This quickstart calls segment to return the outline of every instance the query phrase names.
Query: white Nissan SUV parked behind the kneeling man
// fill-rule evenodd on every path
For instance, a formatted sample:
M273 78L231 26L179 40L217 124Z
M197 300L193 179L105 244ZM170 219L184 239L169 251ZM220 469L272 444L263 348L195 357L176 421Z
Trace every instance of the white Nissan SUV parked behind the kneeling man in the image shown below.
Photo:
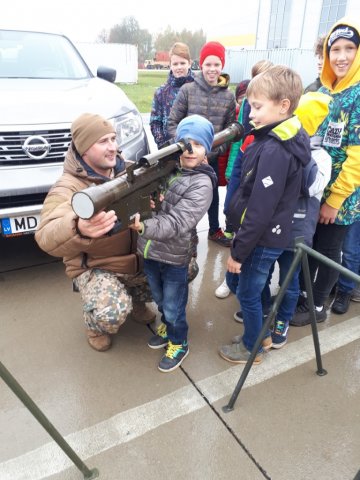
M141 115L115 76L99 67L94 77L63 35L0 30L0 234L35 231L82 113L114 122L125 158L149 153Z

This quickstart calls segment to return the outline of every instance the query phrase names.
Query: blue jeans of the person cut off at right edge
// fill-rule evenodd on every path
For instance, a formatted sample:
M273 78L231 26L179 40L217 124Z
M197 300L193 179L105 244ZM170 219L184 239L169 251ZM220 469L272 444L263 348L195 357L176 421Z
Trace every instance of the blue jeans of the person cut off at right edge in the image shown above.
M343 243L342 266L359 275L360 273L360 221L350 225ZM351 293L356 282L340 275L338 288L341 292Z

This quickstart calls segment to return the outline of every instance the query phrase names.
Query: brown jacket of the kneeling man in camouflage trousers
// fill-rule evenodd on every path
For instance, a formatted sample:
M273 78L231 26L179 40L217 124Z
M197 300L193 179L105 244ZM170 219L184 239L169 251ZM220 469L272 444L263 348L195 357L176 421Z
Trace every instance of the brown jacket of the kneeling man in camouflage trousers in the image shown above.
M124 170L120 174L123 173ZM90 268L135 274L140 270L135 232L127 229L112 236L87 239L76 230L77 216L71 208L72 195L94 183L104 183L104 178L89 176L70 146L64 173L45 199L35 239L45 252L63 257L70 278Z

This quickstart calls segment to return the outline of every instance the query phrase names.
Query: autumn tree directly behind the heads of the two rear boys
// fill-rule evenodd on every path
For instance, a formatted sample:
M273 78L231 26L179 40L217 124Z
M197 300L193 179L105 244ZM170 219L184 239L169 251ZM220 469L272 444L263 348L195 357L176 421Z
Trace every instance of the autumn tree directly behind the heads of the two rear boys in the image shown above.
M167 26L163 33L159 33L154 41L154 48L156 51L168 51L175 42L184 42L190 48L192 59L198 59L201 47L206 43L206 35L204 31L197 30L191 32L190 30L182 30L175 32L170 26Z

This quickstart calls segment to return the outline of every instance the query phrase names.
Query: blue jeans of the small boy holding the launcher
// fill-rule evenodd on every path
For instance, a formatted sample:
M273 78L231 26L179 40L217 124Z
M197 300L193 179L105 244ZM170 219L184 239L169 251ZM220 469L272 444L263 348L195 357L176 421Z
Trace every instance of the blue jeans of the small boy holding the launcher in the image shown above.
M162 313L167 336L175 345L187 341L188 266L144 260L144 271L154 301Z

